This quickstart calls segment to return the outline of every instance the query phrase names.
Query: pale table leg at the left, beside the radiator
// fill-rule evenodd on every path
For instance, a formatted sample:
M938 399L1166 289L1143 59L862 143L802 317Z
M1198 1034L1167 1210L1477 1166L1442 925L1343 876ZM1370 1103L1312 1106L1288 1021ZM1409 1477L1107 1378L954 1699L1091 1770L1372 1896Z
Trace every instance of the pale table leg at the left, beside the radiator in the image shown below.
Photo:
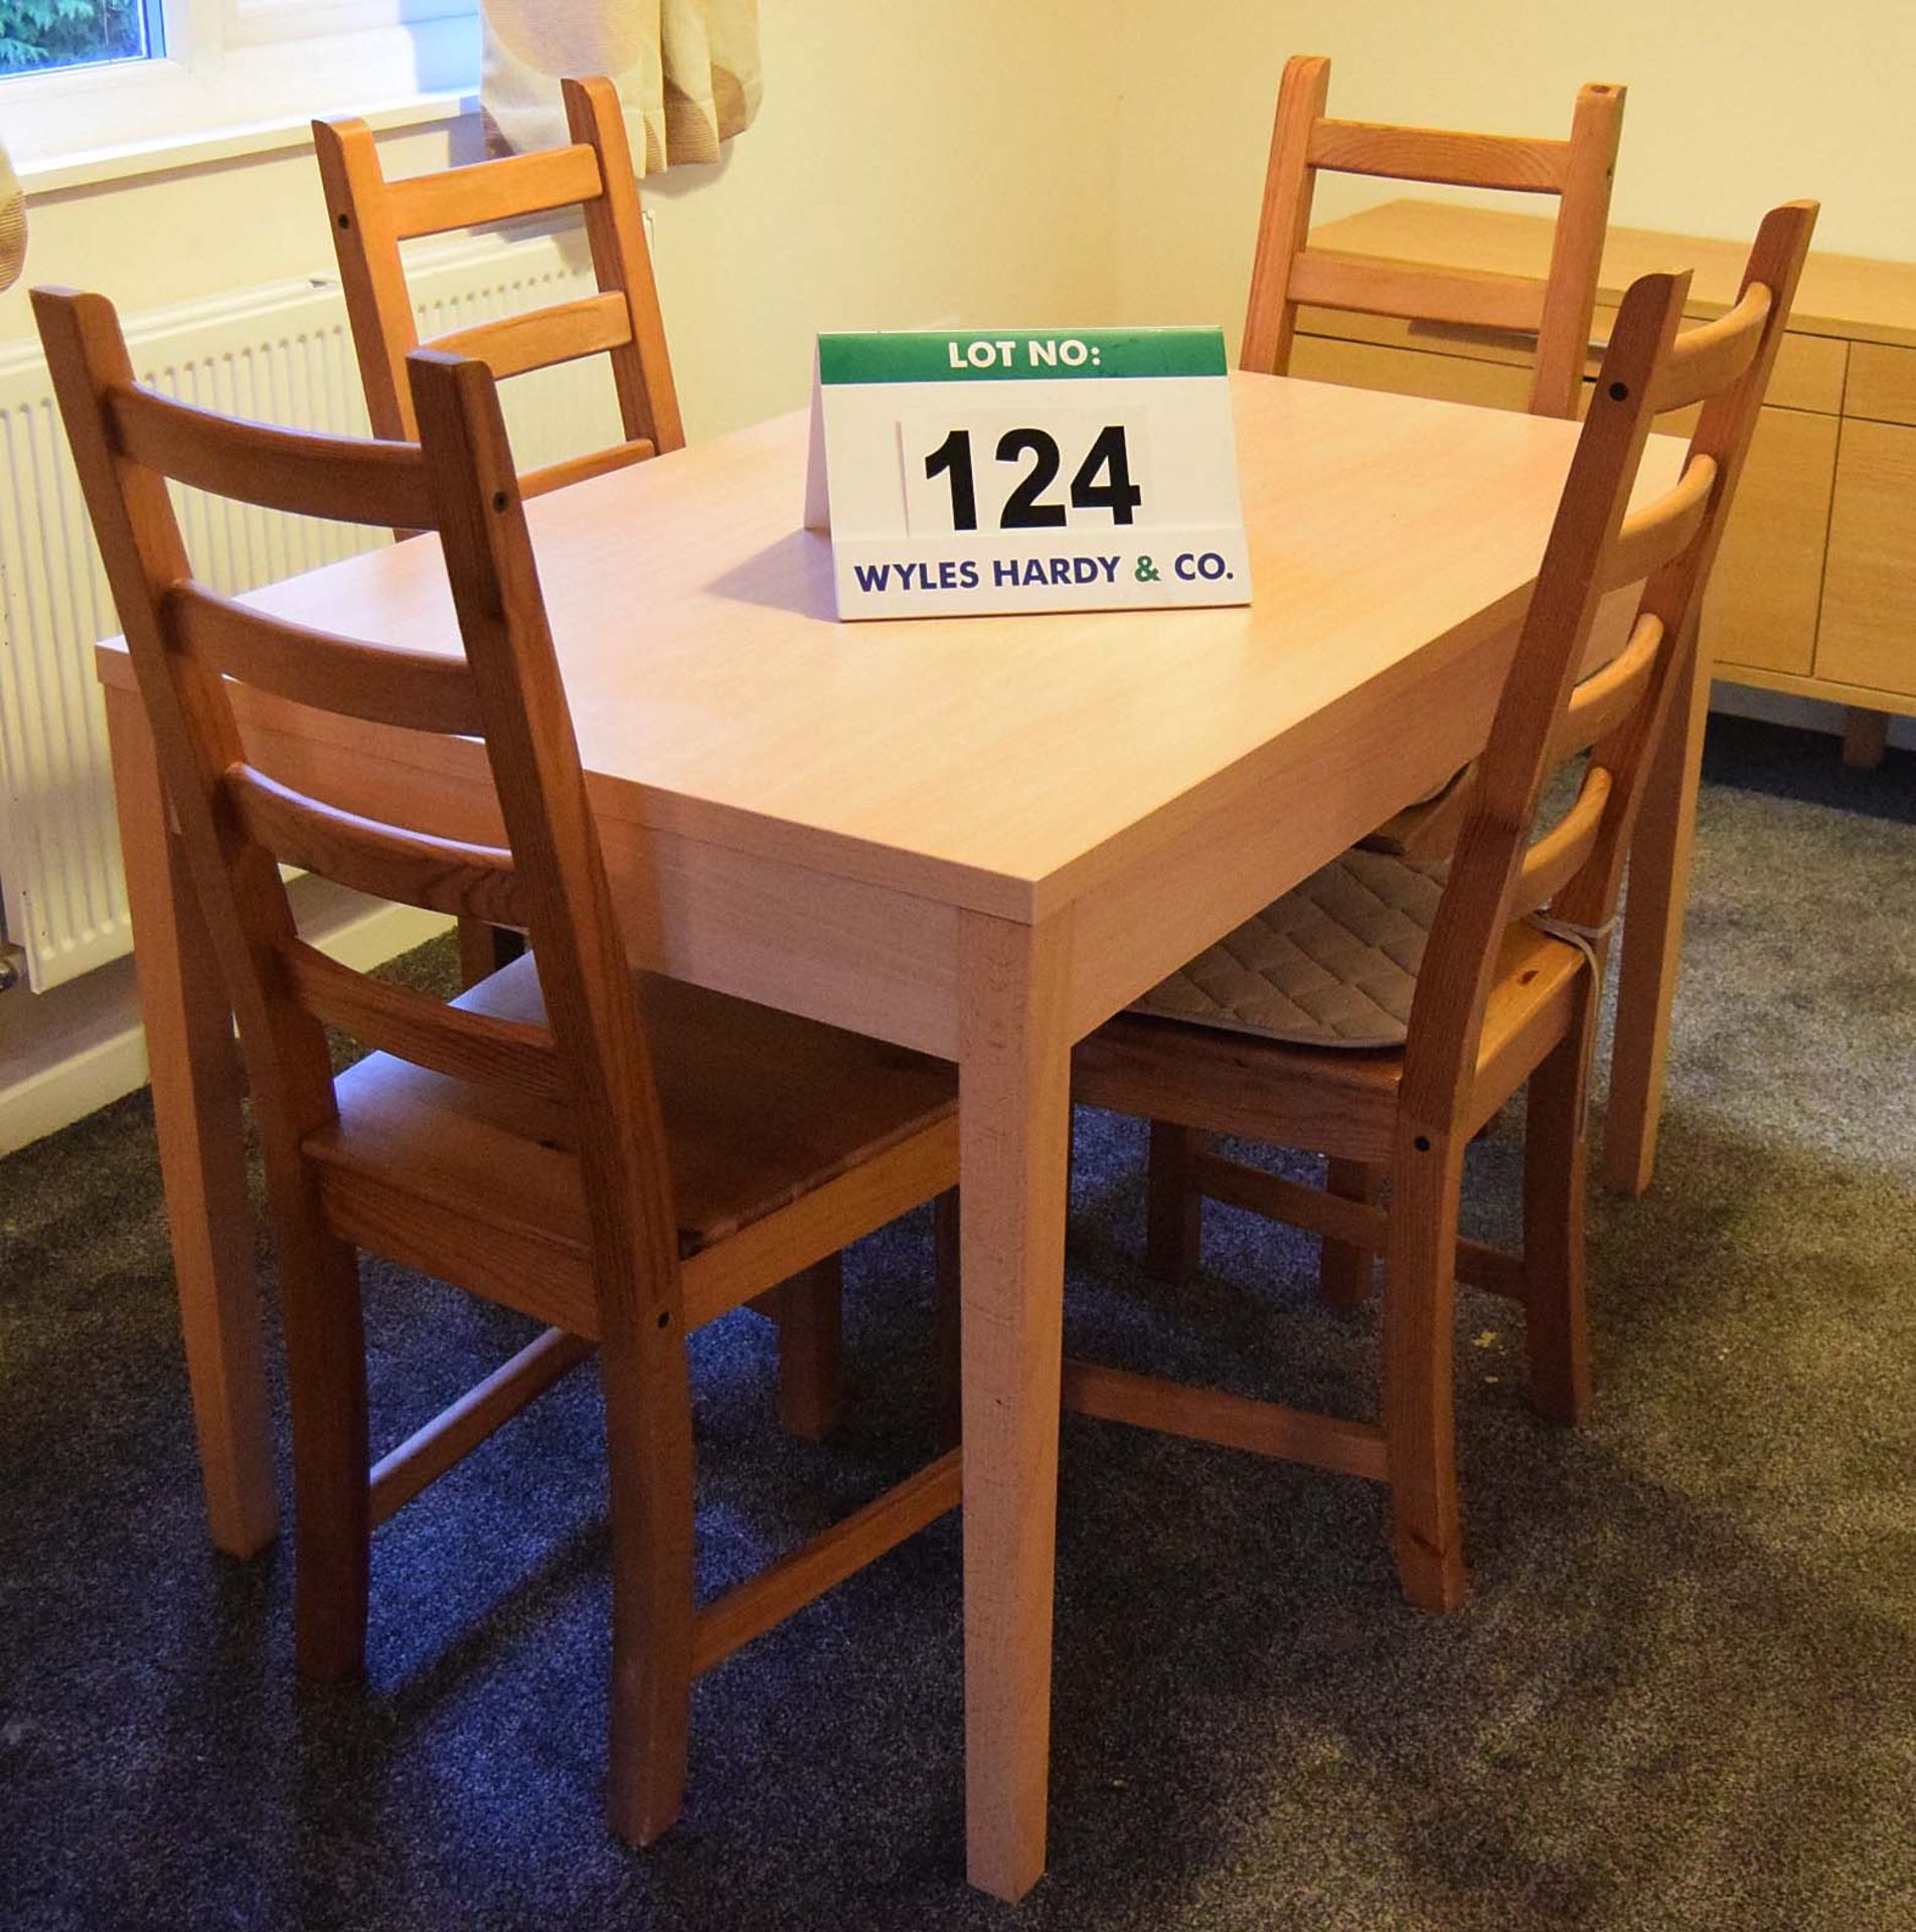
M207 1520L249 1557L276 1517L234 1016L133 692L106 694L106 728Z

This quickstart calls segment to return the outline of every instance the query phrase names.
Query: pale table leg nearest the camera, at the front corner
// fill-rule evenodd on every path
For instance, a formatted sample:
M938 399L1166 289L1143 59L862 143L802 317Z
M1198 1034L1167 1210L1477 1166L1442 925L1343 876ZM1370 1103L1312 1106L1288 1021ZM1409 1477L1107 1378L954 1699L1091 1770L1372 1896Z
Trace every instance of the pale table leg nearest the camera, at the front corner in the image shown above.
M966 1843L1018 1899L1051 1764L1070 935L966 914L960 954Z

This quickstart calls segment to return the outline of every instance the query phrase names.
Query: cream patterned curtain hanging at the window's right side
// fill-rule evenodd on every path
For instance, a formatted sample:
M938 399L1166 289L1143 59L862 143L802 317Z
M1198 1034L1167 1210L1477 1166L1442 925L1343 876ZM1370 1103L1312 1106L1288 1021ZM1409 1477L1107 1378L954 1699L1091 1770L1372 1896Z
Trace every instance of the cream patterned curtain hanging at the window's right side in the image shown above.
M558 147L562 73L606 73L639 174L717 160L759 112L759 0L481 0L479 99L518 153Z

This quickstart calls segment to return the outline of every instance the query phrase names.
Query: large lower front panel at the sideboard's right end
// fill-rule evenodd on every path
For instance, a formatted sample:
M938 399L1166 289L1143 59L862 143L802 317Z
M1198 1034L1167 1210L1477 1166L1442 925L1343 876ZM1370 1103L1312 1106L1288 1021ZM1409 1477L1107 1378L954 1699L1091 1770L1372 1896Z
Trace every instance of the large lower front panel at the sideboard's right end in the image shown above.
M1816 674L1916 697L1916 427L1843 423Z

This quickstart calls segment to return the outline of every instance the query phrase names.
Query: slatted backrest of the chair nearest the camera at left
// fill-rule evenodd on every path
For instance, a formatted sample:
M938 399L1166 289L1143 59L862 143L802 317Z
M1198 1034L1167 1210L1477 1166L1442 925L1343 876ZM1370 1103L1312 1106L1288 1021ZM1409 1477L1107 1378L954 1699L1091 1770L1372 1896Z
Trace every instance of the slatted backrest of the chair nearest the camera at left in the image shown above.
M338 1117L324 1026L500 1090L516 1119L576 1148L601 1318L676 1316L678 1244L659 1103L578 744L525 533L493 375L421 352L419 446L267 429L133 381L112 303L35 290L33 307L106 558L195 891L240 1018L268 1182L307 1188L303 1146ZM377 645L267 616L193 578L168 479L350 524L437 529L465 657ZM506 844L373 819L255 765L245 684L336 717L481 738ZM525 927L549 1026L357 974L299 939L290 864L435 912ZM294 1204L296 1206L296 1204Z

